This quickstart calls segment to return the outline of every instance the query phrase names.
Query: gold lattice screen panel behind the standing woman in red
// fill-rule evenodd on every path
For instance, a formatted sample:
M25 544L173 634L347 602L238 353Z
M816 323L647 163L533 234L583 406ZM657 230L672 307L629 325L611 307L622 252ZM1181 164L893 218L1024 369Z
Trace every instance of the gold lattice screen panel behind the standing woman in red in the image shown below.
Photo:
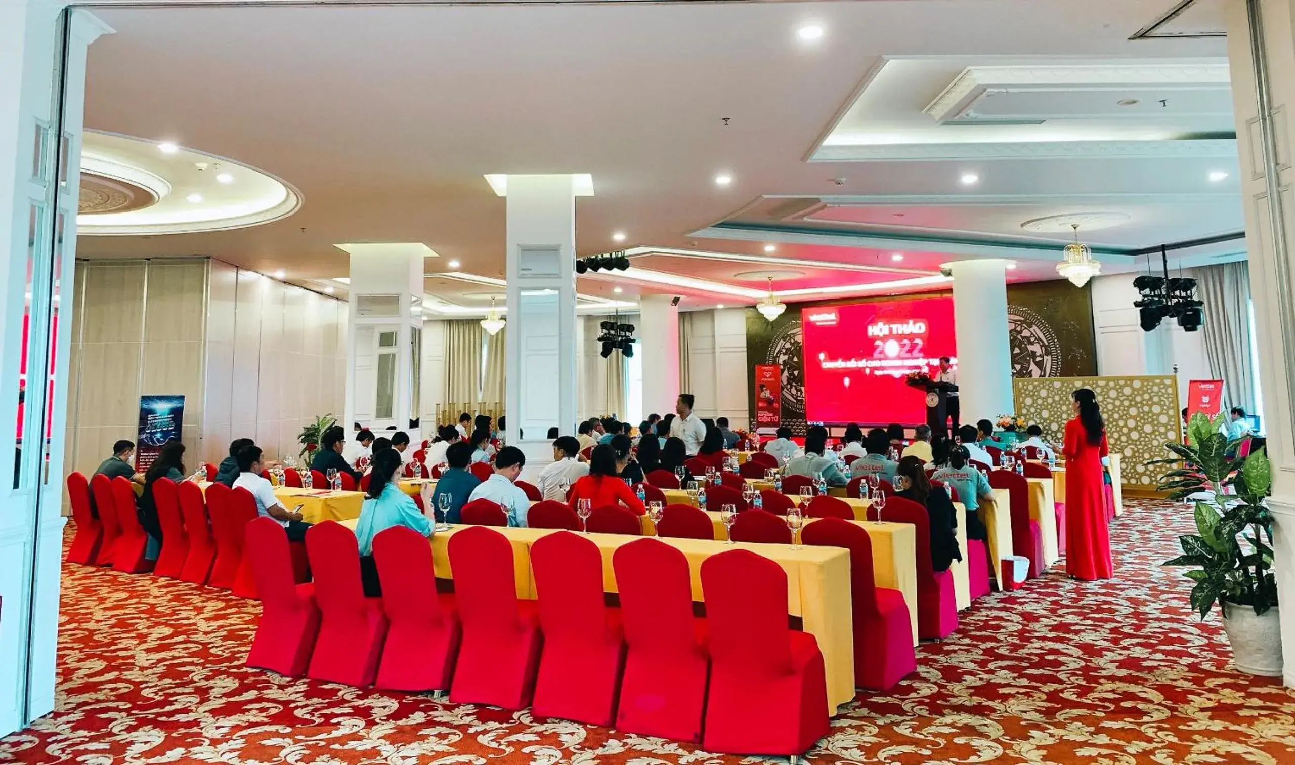
M1093 388L1111 452L1123 454L1125 485L1155 487L1164 466L1145 463L1168 456L1166 441L1182 440L1178 384L1171 375L1017 378L1013 387L1017 414L1037 423L1044 438L1057 443L1074 417L1070 395L1076 388Z

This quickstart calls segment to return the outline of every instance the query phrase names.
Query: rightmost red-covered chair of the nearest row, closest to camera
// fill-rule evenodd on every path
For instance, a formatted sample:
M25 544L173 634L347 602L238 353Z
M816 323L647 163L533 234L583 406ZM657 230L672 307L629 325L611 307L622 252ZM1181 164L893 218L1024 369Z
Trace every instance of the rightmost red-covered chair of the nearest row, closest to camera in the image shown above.
M711 654L702 747L803 753L828 735L828 687L813 636L787 628L786 572L750 550L728 550L702 563L702 590Z

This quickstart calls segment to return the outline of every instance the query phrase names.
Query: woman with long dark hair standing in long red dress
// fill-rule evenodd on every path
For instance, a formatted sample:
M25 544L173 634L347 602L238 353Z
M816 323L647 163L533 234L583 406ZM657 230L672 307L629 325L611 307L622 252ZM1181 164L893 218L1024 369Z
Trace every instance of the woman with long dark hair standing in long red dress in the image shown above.
M1071 394L1075 418L1066 423L1066 571L1075 579L1114 576L1106 527L1102 458L1109 453L1097 394Z

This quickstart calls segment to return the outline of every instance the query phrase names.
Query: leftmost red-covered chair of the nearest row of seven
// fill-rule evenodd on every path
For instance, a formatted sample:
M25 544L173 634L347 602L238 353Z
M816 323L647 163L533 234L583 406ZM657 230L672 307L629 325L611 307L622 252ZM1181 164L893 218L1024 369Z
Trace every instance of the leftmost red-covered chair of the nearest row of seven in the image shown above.
M243 544L260 593L260 620L246 664L300 677L311 663L320 629L315 585L294 581L287 532L273 518L247 523Z

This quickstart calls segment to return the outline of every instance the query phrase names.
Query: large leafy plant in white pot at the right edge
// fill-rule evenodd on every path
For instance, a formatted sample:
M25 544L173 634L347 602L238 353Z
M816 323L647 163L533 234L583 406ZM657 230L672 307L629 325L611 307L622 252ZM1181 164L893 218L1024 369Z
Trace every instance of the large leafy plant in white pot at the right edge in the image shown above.
M1272 572L1273 522L1264 505L1272 467L1264 449L1233 457L1243 439L1229 439L1221 425L1222 416L1211 421L1197 413L1188 423L1188 443L1166 444L1176 457L1153 462L1178 465L1158 488L1171 500L1195 504L1197 533L1180 536L1182 554L1164 564L1191 567L1184 575L1195 582L1191 608L1200 619L1219 602L1237 669L1277 677L1282 639Z

